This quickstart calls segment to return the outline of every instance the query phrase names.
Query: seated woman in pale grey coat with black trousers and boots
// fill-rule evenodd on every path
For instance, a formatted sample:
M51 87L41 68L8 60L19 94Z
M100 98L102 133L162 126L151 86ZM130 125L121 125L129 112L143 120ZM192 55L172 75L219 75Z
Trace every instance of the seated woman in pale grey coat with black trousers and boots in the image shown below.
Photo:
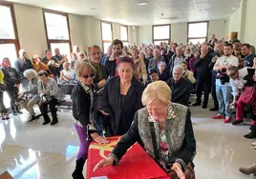
M43 125L47 125L51 122L51 119L47 112L49 105L53 117L51 125L53 126L58 123L57 109L55 108L55 106L65 98L65 94L61 89L58 88L56 82L52 78L48 77L48 75L48 72L45 70L40 70L38 72L39 81L37 83L37 87L39 95L41 99L42 96L48 98L47 102L39 103L39 109L44 117Z

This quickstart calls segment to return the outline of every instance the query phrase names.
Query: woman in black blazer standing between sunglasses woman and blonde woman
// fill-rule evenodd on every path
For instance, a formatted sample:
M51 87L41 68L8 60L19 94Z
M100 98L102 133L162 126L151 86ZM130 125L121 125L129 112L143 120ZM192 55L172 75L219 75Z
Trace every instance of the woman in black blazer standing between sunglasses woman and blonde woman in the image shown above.
M144 86L133 77L134 61L129 57L118 59L119 76L108 80L97 109L112 119L113 135L122 135L130 128L135 112L141 109Z

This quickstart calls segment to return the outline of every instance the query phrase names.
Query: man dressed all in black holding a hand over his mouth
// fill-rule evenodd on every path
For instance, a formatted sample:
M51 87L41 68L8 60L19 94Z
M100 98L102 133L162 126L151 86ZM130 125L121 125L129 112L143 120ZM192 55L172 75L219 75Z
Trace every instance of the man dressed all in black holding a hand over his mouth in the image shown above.
M211 58L208 54L207 45L201 47L201 55L195 61L195 68L197 68L197 100L193 104L194 107L201 106L202 92L203 92L203 109L207 108L208 98L211 88L211 70L209 63Z

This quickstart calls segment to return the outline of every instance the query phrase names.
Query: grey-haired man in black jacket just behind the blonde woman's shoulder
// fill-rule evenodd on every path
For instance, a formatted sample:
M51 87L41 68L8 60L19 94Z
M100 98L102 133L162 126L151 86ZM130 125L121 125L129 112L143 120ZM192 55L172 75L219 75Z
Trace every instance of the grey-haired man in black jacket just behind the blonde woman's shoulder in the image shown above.
M173 78L167 84L172 90L172 102L188 106L188 100L192 92L192 84L182 78L183 68L175 66L173 68Z

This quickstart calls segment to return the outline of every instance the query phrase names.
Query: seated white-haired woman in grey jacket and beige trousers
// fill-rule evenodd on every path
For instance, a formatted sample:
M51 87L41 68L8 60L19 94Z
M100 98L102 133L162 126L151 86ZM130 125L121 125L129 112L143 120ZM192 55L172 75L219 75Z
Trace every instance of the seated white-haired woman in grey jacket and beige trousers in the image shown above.
M27 89L18 96L17 101L20 101L20 105L24 109L28 110L28 112L30 113L27 123L31 123L35 121L35 112L34 112L33 106L35 104L38 104L40 100L38 89L37 89L37 81L38 81L37 72L32 69L25 70L24 76L28 79L29 84Z

